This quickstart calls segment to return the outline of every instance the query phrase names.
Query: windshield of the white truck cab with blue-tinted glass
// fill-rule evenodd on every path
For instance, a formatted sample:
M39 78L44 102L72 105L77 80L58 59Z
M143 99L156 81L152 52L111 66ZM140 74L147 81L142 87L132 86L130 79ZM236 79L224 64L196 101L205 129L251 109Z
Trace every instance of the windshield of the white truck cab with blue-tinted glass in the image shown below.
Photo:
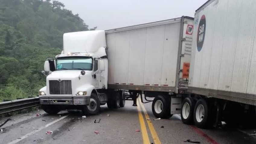
M92 70L91 57L62 57L56 61L56 70Z

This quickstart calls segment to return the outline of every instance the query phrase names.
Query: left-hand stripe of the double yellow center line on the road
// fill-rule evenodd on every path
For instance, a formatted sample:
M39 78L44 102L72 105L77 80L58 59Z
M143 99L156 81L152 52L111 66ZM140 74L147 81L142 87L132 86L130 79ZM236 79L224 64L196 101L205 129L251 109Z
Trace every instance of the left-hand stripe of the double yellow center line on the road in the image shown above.
M137 99L137 103L138 102L138 99ZM147 128L146 128L146 124L145 124L145 121L144 121L144 118L142 116L142 113L141 113L141 108L138 104L138 107L137 107L137 110L138 110L138 115L139 115L139 123L140 123L140 131L141 131L141 135L142 135L142 140L143 140L143 144L149 144L149 135L148 135L148 132L147 132Z

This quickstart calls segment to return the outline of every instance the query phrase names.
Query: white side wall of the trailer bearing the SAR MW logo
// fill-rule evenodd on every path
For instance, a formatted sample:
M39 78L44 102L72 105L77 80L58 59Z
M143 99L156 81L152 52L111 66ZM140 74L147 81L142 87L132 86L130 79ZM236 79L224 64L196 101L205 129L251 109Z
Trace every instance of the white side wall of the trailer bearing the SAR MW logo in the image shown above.
M256 105L255 20L255 0L212 0L199 8L195 14L190 90Z

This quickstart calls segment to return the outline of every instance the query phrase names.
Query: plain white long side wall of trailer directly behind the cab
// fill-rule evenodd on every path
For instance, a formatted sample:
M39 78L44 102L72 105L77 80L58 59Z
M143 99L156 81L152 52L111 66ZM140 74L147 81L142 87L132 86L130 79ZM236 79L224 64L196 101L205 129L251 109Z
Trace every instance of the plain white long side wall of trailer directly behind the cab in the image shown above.
M177 18L128 30L106 31L108 84L126 85L124 88L166 87L167 91L174 91L180 21Z

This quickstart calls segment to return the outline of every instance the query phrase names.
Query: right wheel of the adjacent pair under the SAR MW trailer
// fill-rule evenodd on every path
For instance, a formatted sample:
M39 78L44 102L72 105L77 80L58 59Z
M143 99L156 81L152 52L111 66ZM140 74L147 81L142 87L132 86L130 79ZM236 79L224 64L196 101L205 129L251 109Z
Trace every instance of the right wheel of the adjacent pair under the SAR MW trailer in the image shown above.
M197 127L207 129L213 126L214 116L210 103L203 98L199 99L194 108L194 123Z

